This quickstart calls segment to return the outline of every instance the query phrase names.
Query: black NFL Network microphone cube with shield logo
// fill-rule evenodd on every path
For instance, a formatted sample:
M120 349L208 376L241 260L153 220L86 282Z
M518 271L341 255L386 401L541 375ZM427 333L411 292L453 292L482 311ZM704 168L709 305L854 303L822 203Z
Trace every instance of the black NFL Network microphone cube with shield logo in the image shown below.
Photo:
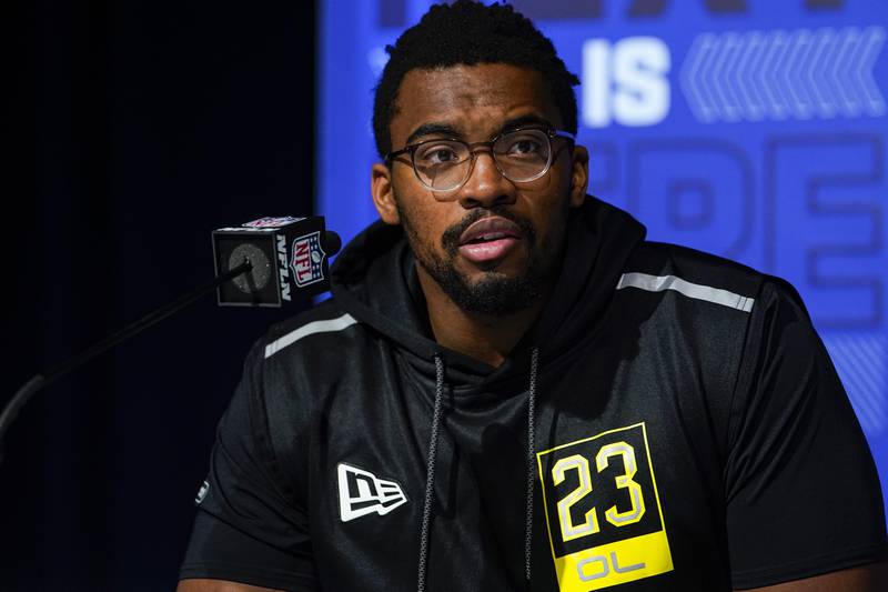
M219 277L249 261L253 269L218 289L223 307L274 307L329 290L325 228L321 217L260 218L213 231Z

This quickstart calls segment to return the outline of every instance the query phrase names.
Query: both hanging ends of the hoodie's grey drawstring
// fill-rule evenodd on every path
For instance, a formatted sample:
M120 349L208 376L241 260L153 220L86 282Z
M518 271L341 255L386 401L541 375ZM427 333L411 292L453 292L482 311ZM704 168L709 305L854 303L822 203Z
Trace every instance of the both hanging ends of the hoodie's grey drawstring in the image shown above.
M444 399L444 360L435 354L435 403L432 412L432 433L428 437L428 461L423 501L423 524L420 531L420 568L416 580L417 592L425 592L425 574L428 564L428 528L432 521L432 501L435 495L435 460L437 459L437 434L441 429L441 404ZM534 533L534 465L536 452L536 374L539 348L531 352L531 384L527 388L527 491L524 501L524 578L531 582L531 543Z

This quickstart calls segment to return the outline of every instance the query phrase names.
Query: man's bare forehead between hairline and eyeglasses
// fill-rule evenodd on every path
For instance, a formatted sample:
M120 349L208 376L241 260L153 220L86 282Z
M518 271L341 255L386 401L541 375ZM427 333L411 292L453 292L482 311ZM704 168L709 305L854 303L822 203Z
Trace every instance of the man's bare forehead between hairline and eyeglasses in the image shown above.
M494 131L504 121L525 116L561 124L543 76L504 63L411 70L398 88L395 108L391 128L395 142L428 123L447 123L464 133Z

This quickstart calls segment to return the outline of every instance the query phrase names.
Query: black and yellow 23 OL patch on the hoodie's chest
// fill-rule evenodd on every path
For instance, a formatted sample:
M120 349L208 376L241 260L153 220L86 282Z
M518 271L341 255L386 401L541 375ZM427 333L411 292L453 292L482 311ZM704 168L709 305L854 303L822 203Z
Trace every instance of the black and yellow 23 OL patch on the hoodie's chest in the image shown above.
M561 592L673 570L644 423L544 450L536 460Z

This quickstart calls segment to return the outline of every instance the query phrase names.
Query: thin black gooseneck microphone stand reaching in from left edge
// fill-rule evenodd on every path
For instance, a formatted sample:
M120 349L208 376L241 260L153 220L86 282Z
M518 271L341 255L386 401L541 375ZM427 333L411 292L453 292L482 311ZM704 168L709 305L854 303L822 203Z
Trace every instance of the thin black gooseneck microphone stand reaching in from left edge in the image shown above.
M31 380L26 382L16 392L16 394L12 397L9 403L7 403L7 405L3 408L3 412L0 413L0 465L3 464L3 435L6 435L6 432L9 430L9 427L18 417L19 411L21 411L24 404L28 403L31 397L40 392L43 388L49 387L60 378L70 373L71 371L85 364L93 358L101 355L102 353L114 348L115 345L119 345L120 343L123 343L128 339L138 335L149 327L159 323L163 319L172 317L173 314L181 311L185 307L198 301L201 297L203 297L208 292L215 290L226 281L236 278L241 273L246 273L252 269L253 264L249 260L244 259L243 263L219 275L215 280L208 282L201 285L200 288L196 288L191 292L178 298L176 300L170 302L169 304L145 314L138 321L130 323L129 325L124 327L117 333L95 343L91 348L74 355L67 362L60 364L57 368L53 368L49 372L39 373L33 378L31 378Z

